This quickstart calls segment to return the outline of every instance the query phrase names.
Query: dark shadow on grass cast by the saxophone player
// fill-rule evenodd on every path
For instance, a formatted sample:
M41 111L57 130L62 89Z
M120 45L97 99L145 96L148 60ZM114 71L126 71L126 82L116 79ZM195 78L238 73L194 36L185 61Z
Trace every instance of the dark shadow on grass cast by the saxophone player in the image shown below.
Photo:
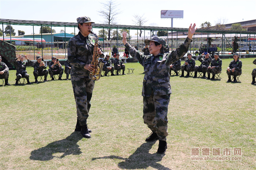
M30 159L38 161L49 161L56 156L53 154L63 153L61 157L64 158L67 155L79 155L82 152L80 151L79 145L77 142L81 140L82 135L78 135L78 132L73 132L67 138L58 140L52 143L49 143L45 147L39 148L31 152Z

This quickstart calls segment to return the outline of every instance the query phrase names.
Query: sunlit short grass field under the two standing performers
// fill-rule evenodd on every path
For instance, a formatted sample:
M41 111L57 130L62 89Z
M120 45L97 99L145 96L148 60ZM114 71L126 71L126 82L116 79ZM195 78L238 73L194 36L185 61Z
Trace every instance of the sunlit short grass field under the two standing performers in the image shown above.
M90 139L74 132L76 106L70 80L0 86L0 169L256 169L256 86L251 85L254 58L241 59L238 83L172 77L167 151L158 141L145 142L150 130L142 119L143 67L127 63L135 74L102 77L95 82L87 120ZM183 64L184 62L182 62ZM196 61L196 65L199 62ZM127 73L127 70L125 71ZM65 76L63 76L64 78ZM49 76L48 79L50 80ZM192 161L192 149L231 150L239 161ZM234 148L241 148L235 155ZM205 150L204 150L205 151Z

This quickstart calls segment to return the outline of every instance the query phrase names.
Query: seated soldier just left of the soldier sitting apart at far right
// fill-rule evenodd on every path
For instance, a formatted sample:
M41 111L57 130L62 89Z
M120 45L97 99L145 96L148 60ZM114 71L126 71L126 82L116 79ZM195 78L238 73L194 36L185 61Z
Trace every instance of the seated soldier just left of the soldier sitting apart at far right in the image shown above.
M221 73L222 60L219 58L219 53L214 53L214 59L211 61L211 65L207 68L207 79L215 80L215 74ZM212 78L210 78L212 74Z

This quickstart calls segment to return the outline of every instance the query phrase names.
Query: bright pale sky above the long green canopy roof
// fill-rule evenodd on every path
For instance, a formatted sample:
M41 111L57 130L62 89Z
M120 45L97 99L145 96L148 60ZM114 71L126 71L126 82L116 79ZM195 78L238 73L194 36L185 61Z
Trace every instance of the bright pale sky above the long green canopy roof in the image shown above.
M42 20L58 22L76 22L79 16L90 16L95 23L103 23L99 16L102 2L98 0L0 0L0 18L19 20ZM133 15L143 15L148 20L145 26L155 23L159 27L171 27L170 19L161 19L161 10L183 10L183 19L174 19L173 27L188 28L190 23L197 27L206 21L212 25L219 19L226 23L242 22L256 19L256 0L117 0L118 9L116 23L134 25ZM16 35L18 30L25 34L33 33L32 26L12 26ZM2 26L0 26L1 29ZM5 25L4 25L5 28ZM64 27L54 27L59 32ZM34 27L39 33L39 27ZM77 30L76 30L77 31ZM94 30L95 31L95 30ZM67 33L74 28L66 28Z

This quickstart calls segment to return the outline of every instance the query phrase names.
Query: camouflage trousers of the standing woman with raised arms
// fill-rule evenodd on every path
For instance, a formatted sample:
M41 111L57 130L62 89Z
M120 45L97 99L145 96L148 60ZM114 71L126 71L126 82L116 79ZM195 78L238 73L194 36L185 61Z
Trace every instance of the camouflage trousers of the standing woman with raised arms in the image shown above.
M143 96L143 120L152 132L157 133L159 140L166 140L167 112L170 101L170 94L163 96Z

